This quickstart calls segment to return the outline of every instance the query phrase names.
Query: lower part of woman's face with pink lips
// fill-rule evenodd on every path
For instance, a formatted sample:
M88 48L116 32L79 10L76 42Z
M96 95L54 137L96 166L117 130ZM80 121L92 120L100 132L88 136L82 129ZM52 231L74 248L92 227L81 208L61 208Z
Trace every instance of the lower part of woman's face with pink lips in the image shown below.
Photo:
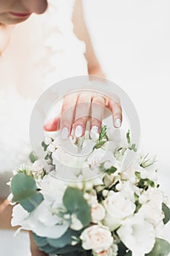
M46 9L47 0L0 0L0 23L17 24Z

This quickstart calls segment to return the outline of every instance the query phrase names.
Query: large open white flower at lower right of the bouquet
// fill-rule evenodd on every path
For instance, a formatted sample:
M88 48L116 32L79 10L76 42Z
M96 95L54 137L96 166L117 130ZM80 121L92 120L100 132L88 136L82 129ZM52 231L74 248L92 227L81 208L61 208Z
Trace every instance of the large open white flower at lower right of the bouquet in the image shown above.
M135 215L128 217L117 230L123 244L131 250L132 256L144 256L155 244L155 230L152 224Z

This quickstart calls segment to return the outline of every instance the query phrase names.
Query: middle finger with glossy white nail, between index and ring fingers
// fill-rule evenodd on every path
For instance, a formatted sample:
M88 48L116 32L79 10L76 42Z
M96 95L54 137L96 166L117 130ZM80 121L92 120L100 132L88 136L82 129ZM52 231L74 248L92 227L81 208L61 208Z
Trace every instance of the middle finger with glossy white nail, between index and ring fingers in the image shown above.
M81 137L85 134L85 128L90 113L91 96L88 93L81 93L77 100L74 119L74 135Z

